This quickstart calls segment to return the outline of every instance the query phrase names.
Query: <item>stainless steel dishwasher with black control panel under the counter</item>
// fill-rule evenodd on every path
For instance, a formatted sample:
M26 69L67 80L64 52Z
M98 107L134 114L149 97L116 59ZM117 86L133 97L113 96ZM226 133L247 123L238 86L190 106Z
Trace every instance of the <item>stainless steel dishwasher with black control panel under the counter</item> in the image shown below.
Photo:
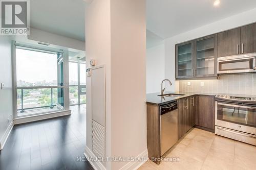
M160 106L161 156L178 141L177 101Z

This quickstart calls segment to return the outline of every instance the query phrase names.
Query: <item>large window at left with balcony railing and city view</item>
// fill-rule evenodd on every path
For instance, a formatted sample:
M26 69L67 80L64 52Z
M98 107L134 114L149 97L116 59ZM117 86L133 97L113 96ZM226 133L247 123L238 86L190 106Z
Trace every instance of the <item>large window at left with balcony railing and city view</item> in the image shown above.
M16 45L17 116L63 109L62 53Z

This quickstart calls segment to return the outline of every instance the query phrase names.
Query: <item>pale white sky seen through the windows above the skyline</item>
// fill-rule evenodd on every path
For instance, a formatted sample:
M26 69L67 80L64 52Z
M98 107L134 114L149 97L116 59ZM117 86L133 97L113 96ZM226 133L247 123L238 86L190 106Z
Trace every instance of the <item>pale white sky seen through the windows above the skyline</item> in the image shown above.
M77 82L77 63L69 63L70 82ZM16 48L17 81L52 82L57 80L57 54ZM80 64L80 82L86 84L86 64Z

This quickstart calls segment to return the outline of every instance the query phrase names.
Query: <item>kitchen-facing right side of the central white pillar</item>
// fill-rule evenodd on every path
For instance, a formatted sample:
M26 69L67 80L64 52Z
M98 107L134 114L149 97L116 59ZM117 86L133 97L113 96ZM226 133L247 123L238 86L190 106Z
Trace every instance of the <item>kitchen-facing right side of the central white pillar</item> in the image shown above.
M111 152L146 151L146 2L111 0ZM120 169L126 162L113 162Z

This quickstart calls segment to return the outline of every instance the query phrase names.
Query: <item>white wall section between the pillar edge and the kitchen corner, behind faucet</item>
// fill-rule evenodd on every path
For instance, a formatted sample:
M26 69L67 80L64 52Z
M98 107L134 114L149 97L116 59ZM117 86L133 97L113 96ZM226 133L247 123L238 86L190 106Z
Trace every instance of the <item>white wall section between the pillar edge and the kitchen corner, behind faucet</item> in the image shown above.
M160 92L164 79L164 43L146 49L146 93Z

